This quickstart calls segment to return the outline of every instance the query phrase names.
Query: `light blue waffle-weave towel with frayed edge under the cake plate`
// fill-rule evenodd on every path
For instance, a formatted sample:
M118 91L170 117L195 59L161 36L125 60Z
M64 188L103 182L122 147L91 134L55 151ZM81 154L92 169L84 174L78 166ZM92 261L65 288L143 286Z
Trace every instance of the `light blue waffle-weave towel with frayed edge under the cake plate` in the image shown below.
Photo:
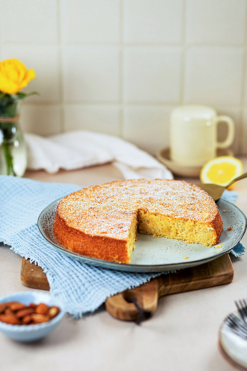
M71 259L44 240L37 227L41 211L57 198L80 188L72 184L0 176L0 241L44 269L50 292L59 296L65 310L75 317L95 311L108 296L160 275L90 266ZM235 202L237 193L226 191L224 198ZM232 252L240 256L244 250L239 243Z

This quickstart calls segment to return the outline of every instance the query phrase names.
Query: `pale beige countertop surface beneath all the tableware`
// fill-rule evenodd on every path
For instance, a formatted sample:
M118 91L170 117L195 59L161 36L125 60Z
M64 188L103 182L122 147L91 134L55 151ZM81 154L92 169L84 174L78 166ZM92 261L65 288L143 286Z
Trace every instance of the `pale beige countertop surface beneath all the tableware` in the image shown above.
M247 159L243 162L247 171ZM54 175L27 171L25 177L86 186L121 179L121 174L107 164ZM247 214L247 179L234 190L236 205ZM247 246L247 234L242 242ZM0 252L0 296L28 290L20 282L21 257L8 246L0 246ZM52 334L32 344L0 333L0 371L235 370L218 350L218 328L235 310L234 300L247 297L247 253L231 259L233 282L160 298L154 316L140 326L112 318L102 306L80 320L66 315Z

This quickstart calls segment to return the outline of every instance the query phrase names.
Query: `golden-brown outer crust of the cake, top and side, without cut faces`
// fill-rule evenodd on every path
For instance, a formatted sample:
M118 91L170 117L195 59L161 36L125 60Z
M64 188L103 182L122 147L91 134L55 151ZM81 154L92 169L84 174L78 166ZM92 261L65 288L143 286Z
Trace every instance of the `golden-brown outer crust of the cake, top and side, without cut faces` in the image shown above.
M213 199L192 183L166 179L120 180L83 188L60 200L53 224L59 243L82 255L128 263L129 230L138 210L212 227L223 221Z

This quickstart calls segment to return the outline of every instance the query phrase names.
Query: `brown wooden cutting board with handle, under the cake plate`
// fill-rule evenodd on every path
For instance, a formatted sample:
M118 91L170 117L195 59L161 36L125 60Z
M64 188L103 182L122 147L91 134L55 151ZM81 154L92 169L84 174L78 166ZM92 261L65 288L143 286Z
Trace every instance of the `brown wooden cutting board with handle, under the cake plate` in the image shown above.
M137 288L111 296L106 299L106 310L115 318L140 323L155 312L160 296L224 285L233 280L233 275L231 259L225 254L209 263L163 274ZM34 289L50 289L43 270L24 257L21 282Z

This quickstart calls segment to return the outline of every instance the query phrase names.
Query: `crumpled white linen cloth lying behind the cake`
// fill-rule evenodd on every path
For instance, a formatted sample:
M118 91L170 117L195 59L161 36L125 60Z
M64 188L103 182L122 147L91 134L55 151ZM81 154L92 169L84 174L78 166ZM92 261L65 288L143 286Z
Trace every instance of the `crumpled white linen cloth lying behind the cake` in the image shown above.
M56 173L112 162L125 179L164 178L173 174L154 157L124 139L91 131L41 137L25 134L27 167Z

